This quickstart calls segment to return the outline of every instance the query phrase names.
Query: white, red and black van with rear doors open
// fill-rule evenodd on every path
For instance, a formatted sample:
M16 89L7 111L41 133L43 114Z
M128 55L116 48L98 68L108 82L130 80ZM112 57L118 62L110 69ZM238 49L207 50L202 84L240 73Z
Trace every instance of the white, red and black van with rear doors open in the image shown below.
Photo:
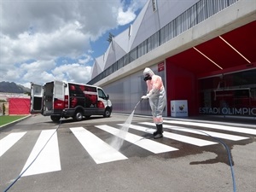
M110 117L112 103L100 87L52 81L44 84L31 83L31 113L42 113L53 121L72 117L74 120L91 115Z

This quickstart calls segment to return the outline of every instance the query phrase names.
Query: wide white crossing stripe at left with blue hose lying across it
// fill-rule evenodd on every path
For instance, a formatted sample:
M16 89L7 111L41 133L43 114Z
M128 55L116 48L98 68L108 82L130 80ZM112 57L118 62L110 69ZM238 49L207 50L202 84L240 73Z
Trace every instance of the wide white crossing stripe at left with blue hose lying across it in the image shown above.
M55 134L54 134L55 133ZM53 135L54 134L54 135ZM52 137L51 137L52 136ZM51 138L50 138L51 137ZM50 138L50 140L49 140ZM47 141L49 142L47 143ZM45 145L45 143L47 143ZM45 145L45 147L44 147ZM42 148L44 148L42 150ZM41 154L39 152L42 150ZM38 155L39 154L39 155ZM32 161L38 158L32 163ZM24 170L32 163L26 172ZM38 137L38 141L32 149L32 153L26 160L22 172L24 176L40 174L44 172L56 172L61 170L61 160L58 146L58 137L55 130L44 130Z

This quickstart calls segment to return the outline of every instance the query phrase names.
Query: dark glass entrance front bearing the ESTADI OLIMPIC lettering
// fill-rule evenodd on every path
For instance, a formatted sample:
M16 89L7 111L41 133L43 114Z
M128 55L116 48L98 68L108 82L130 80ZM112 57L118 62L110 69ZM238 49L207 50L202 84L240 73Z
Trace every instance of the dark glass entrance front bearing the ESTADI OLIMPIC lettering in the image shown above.
M256 69L200 79L200 113L256 117Z

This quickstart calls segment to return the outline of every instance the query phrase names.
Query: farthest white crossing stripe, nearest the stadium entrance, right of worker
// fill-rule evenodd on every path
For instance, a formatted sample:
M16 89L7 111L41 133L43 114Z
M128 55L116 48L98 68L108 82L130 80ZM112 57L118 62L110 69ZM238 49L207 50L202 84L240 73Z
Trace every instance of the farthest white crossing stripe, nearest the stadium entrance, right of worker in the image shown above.
M197 122L185 122L185 121L178 121L178 120L164 120L164 122L169 124L193 125L193 126L200 126L200 127L212 128L212 129L223 130L223 131L233 131L233 132L256 135L256 129L249 129L249 128L236 127L236 126L206 124L206 123L197 123ZM256 125L255 125L255 128L256 128Z

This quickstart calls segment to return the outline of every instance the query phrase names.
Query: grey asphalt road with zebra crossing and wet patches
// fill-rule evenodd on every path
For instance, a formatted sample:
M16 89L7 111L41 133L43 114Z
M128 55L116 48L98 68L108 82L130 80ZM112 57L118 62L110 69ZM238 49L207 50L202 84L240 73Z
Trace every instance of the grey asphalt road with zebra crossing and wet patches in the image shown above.
M2 129L0 191L12 184L8 191L255 191L255 125L170 118L164 137L154 140L147 117L134 116L120 134L127 119L112 114L55 124L32 115ZM232 166L224 145L210 136L230 149ZM113 141L124 143L116 150Z

